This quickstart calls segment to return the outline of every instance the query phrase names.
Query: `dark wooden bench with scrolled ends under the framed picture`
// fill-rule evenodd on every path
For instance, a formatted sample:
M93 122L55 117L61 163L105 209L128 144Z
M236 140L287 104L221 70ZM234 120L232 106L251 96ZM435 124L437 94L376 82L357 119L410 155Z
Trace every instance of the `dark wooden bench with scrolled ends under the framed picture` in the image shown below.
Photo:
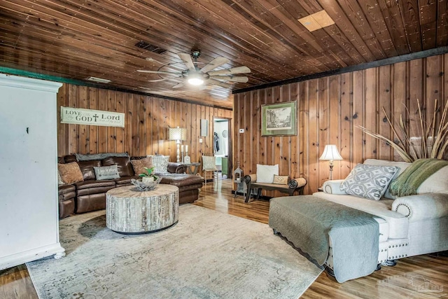
M299 195L303 195L303 188L307 184L307 180L304 178L289 179L288 183L284 185L276 183L257 183L256 174L248 174L244 176L243 181L247 186L246 200L244 200L244 202L248 202L249 198L251 198L251 189L258 189L256 197L258 200L262 189L277 190L281 193L288 193L289 196L294 195L295 191L297 191Z

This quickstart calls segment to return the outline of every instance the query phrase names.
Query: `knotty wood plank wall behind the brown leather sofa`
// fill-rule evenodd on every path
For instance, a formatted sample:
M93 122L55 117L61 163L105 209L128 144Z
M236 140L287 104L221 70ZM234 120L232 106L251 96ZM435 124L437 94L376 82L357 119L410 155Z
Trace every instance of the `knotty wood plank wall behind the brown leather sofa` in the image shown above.
M232 118L232 111L158 97L64 84L57 94L60 106L125 113L125 127L67 125L59 121L57 154L127 152L130 155L170 155L176 161L175 141L169 141L169 127L186 127L188 154L200 162L202 153L213 153L214 117ZM209 134L201 137L200 120L209 120Z

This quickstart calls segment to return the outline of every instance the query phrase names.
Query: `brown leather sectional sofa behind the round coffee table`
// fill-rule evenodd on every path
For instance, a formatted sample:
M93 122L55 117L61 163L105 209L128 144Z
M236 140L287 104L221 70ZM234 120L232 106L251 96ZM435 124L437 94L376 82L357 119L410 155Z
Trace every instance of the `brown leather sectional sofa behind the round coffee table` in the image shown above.
M130 160L145 157L109 157L103 160L77 161L76 155L65 155L59 162L78 162L84 181L59 186L59 218L71 214L96 211L106 208L106 192L112 188L131 185L131 179L138 179ZM119 179L97 180L93 167L116 164ZM186 166L169 162L169 174L162 174L160 183L168 183L179 188L179 203L194 202L199 196L204 179L201 176L185 174Z

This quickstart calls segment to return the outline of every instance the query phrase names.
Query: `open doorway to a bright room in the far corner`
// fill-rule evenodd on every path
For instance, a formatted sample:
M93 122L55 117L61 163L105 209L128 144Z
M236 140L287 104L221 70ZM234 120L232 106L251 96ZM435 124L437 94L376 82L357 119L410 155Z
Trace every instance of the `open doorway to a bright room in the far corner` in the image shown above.
M230 118L214 118L213 150L216 157L216 168L222 177L232 178L232 134Z

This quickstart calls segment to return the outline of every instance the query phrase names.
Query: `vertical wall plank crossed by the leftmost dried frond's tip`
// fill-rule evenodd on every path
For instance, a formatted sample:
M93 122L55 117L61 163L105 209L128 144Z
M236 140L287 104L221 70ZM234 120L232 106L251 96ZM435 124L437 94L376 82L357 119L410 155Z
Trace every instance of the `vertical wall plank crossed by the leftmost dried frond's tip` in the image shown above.
M364 162L365 159L363 134L360 134L360 130L357 127L358 125L364 125L364 80L365 71L353 72L353 112L351 114L351 123L353 125L353 128L351 129L351 134L353 134L352 166Z

